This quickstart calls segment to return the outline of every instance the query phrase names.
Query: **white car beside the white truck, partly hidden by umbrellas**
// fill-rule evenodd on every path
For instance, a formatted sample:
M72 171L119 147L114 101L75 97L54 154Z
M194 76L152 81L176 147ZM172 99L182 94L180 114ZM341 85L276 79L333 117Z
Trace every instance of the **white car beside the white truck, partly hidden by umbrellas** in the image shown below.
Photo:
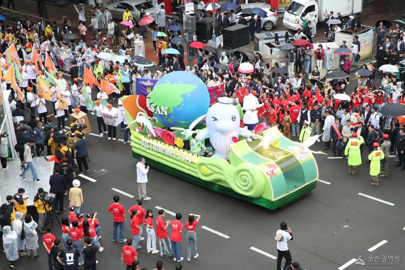
M262 20L262 29L271 30L274 28L274 26L277 25L278 12L275 9L273 9L269 4L264 3L244 4L237 7L235 9L236 23L238 22L240 15L244 15L244 18L247 20L249 20L252 15L254 15L256 18L257 15L255 14L241 13L242 9L253 9L253 8L261 8L267 14L267 18L260 18Z

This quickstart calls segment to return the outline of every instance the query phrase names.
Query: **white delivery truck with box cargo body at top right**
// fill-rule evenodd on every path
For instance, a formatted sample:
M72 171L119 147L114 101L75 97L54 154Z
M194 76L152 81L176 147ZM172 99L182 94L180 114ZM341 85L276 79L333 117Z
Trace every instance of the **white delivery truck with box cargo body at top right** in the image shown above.
M359 14L362 11L362 0L294 0L284 13L282 24L290 29L301 28L300 16L318 23L325 21L325 12L333 11L337 18L338 12L343 17Z

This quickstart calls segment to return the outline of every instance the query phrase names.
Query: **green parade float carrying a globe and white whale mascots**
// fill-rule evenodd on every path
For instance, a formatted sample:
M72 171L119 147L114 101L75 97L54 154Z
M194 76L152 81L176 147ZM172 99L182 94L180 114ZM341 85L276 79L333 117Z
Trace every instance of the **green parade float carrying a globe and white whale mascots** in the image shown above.
M147 97L122 101L133 157L145 157L151 167L272 210L316 186L318 169L308 147L317 137L301 144L277 127L241 128L241 120L252 120L240 106L227 97L210 106L207 87L189 72L171 72ZM248 103L256 102L246 100L247 114L257 107Z

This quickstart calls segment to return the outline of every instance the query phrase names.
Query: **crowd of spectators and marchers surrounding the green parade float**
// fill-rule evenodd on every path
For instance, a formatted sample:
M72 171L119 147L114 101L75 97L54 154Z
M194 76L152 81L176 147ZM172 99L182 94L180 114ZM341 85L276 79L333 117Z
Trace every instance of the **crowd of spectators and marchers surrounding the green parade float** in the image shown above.
M84 197L79 188L80 182L74 179L78 167L78 173L89 171L87 164L87 148L84 141L84 134L80 131L80 124L69 119L69 114L80 111L95 114L97 117L98 132L100 136L108 134L108 140L116 139L116 128L107 127L104 124L101 111L105 105L101 101L114 102L118 96L131 95L136 93L136 79L160 79L169 72L185 70L198 76L207 86L224 85L224 96L232 98L233 104L243 103L244 97L253 94L258 98L258 102L263 103L258 111L259 123L265 123L269 127L277 126L288 138L298 139L304 142L311 136L318 135L318 142L322 140L325 143L324 150L332 147L333 157L348 157L349 174L356 174L356 167L362 163L362 145L367 145L369 155L367 161L370 162L370 174L373 177L372 184L379 185L379 176L388 176L388 158L390 155L396 155L396 166L405 170L405 123L400 122L395 117L388 117L379 113L380 109L389 103L399 103L405 105L405 96L402 90L402 83L405 80L405 72L402 64L404 60L405 46L403 42L403 31L399 25L395 29L387 29L383 24L377 27L377 62L359 65L356 57L360 52L360 43L358 36L353 36L353 46L350 48L351 56L341 56L341 69L347 72L348 76L352 66L358 66L359 69L368 69L371 71L369 76L360 76L357 84L348 78L341 80L332 80L323 86L320 83L310 84L308 75L312 79L319 79L320 69L331 70L329 60L331 59L331 49L318 48L310 49L309 46L292 50L289 52L289 72L272 72L273 67L279 67L280 63L274 63L270 67L269 63L263 60L258 52L251 61L254 64L254 71L249 74L240 73L236 70L238 64L250 61L244 53L235 55L234 58L228 57L226 52L220 55L200 49L197 52L197 63L195 66L185 66L184 48L180 43L174 44L174 37L181 35L180 31L170 30L172 25L181 25L177 18L166 22L163 6L158 7L156 13L156 27L141 27L137 33L137 27L125 27L120 30L119 25L112 20L108 9L101 12L101 8L95 9L91 22L86 26L87 19L84 7L77 8L78 30L80 41L64 38L65 33L71 33L72 25L65 16L62 20L62 27L57 22L44 23L42 21L24 24L18 23L12 27L7 21L0 22L2 30L1 51L4 53L8 46L17 42L21 44L22 49L18 51L21 59L24 58L22 50L27 53L32 52L33 48L38 52L39 60L46 63L47 57L60 72L57 82L50 85L52 101L45 99L44 94L38 90L39 81L47 79L44 72L37 70L36 62L23 60L19 72L19 88L23 92L23 98L19 96L18 91L11 88L11 82L6 78L1 78L3 90L12 90L10 97L10 107L15 121L17 145L15 149L19 153L20 160L24 165L21 178L25 179L28 170L31 170L34 181L39 181L36 169L33 165L33 158L45 155L47 148L47 158L55 162L54 174L50 177L50 193L55 194L53 204L46 203L47 192L43 188L37 190L34 199L34 206L38 213L38 221L34 221L32 216L27 213L26 197L24 197L24 188L18 189L14 196L7 196L7 203L1 207L3 244L6 256L9 260L10 268L16 268L16 261L19 256L32 256L37 258L39 248L38 235L36 230L43 233L43 243L45 251L48 254L49 269L76 269L78 265L85 265L86 269L95 269L97 264L97 252L102 252L100 240L100 224L96 218L97 212L84 213L81 209ZM210 16L207 12L201 13L201 18ZM333 19L333 12L328 15ZM145 13L141 17L146 16ZM220 15L218 15L220 16ZM234 12L229 11L223 14L220 19L221 27L235 23ZM134 25L139 22L132 18L127 9L123 14L124 21L131 21ZM303 21L304 33L299 29L295 38L304 36L311 41L316 28L311 25L305 17ZM350 27L353 17L344 23L344 25L331 26L326 28L326 36L329 41L334 40L334 32L339 31L341 27ZM251 18L249 21L239 18L238 23L250 23L251 37L256 30L260 32L260 17ZM90 29L88 29L88 27ZM88 33L92 31L92 37ZM168 37L155 36L158 31L166 32ZM150 34L152 36L150 36ZM134 37L129 38L131 34ZM105 35L105 37L102 37ZM133 62L134 59L126 57L123 61L105 60L97 55L101 52L111 54L114 59L114 51L121 56L127 55L130 51L133 56L148 57L145 54L144 40L151 38L154 52L158 56L158 68L155 74L140 65ZM90 43L89 43L90 41ZM115 48L114 48L115 47ZM175 48L180 54L165 55L164 50ZM340 45L341 48L347 48L345 42ZM116 52L116 51L115 51ZM316 65L311 64L311 56L315 54ZM328 60L329 59L329 60ZM228 66L229 70L214 67L216 64ZM390 63L398 67L399 72L383 74L380 85L375 83L378 74L378 67L382 64ZM5 57L1 58L3 74L10 67ZM235 64L235 65L234 65ZM313 70L310 71L310 67ZM96 80L100 83L101 79L114 84L121 94L112 93L107 95L104 89L91 83L79 82L84 78L86 70L92 71ZM63 78L61 71L70 74L71 82ZM354 83L355 84L355 83ZM353 85L353 86L352 86ZM61 87L62 86L62 87ZM97 92L97 94L93 94ZM349 100L340 100L335 98L336 94L348 93ZM93 107L94 98L95 106ZM61 108L59 101L66 100L66 108ZM89 102L89 100L91 102ZM47 104L52 103L57 125L53 124L52 118L48 117ZM91 104L91 105L89 105ZM29 109L29 120L26 120L26 110ZM108 104L106 107L111 108ZM354 116L353 116L354 115ZM27 115L28 116L28 115ZM38 119L37 119L38 118ZM123 123L121 129L124 131L128 122L123 113ZM71 129L66 131L65 121L70 121ZM124 143L129 140L129 131L124 133ZM294 138L296 137L296 138ZM7 169L7 133L1 133L0 158L3 169ZM141 162L141 160L140 160ZM145 163L143 163L144 165ZM26 166L26 167L25 167ZM137 166L138 167L138 166ZM141 166L142 167L142 166ZM140 168L137 174L144 173L147 169ZM142 177L140 177L142 178ZM119 203L119 197L114 196L113 203L108 208L112 214L113 234L112 241L118 238L117 229L119 227L119 242L124 244L122 248L121 260L127 265L127 269L146 269L141 268L137 249L140 249L140 242L143 230L147 232L146 249L148 253L160 253L161 257L167 254L174 261L183 260L181 252L181 235L183 232L182 215L176 213L175 220L166 220L165 211L159 210L154 219L151 209L142 207L144 200L150 200L146 196L145 183L139 179L139 199L137 204L128 209L131 223L131 239L125 239L124 223L127 221L127 211ZM61 218L62 234L59 236L47 226L49 212L55 211L59 214L65 211L64 196L69 193L69 213L68 216ZM58 216L59 217L59 216ZM195 228L200 219L199 215L189 214L184 227L187 229L187 255L186 259L191 260L198 257L196 250ZM167 229L171 228L169 237ZM283 240L277 242L277 249L280 259L277 260L277 267L280 267L281 258L288 257L287 239L292 240L291 229L287 224L281 224L281 231L278 232ZM157 237L157 239L156 239ZM156 249L156 240L159 244L159 250ZM287 249L286 249L287 248ZM26 252L25 252L26 251ZM288 252L287 252L288 251ZM298 269L298 263L291 263L291 255L286 262L286 266L292 269ZM162 269L163 262L158 260L156 269ZM177 270L183 266L178 264ZM295 267L295 268L294 268ZM287 268L286 268L287 269Z

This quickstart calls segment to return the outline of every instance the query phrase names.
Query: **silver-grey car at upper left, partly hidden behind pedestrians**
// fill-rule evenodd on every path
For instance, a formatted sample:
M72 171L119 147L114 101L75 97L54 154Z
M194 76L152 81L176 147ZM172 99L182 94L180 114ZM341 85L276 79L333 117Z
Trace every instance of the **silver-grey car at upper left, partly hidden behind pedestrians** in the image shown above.
M138 22L141 18L141 11L143 10L147 16L155 19L156 7L153 7L152 4L146 0L127 0L121 1L118 3L112 3L107 6L108 10L111 12L111 16L114 20L122 21L123 13L128 8L131 12L132 17Z

